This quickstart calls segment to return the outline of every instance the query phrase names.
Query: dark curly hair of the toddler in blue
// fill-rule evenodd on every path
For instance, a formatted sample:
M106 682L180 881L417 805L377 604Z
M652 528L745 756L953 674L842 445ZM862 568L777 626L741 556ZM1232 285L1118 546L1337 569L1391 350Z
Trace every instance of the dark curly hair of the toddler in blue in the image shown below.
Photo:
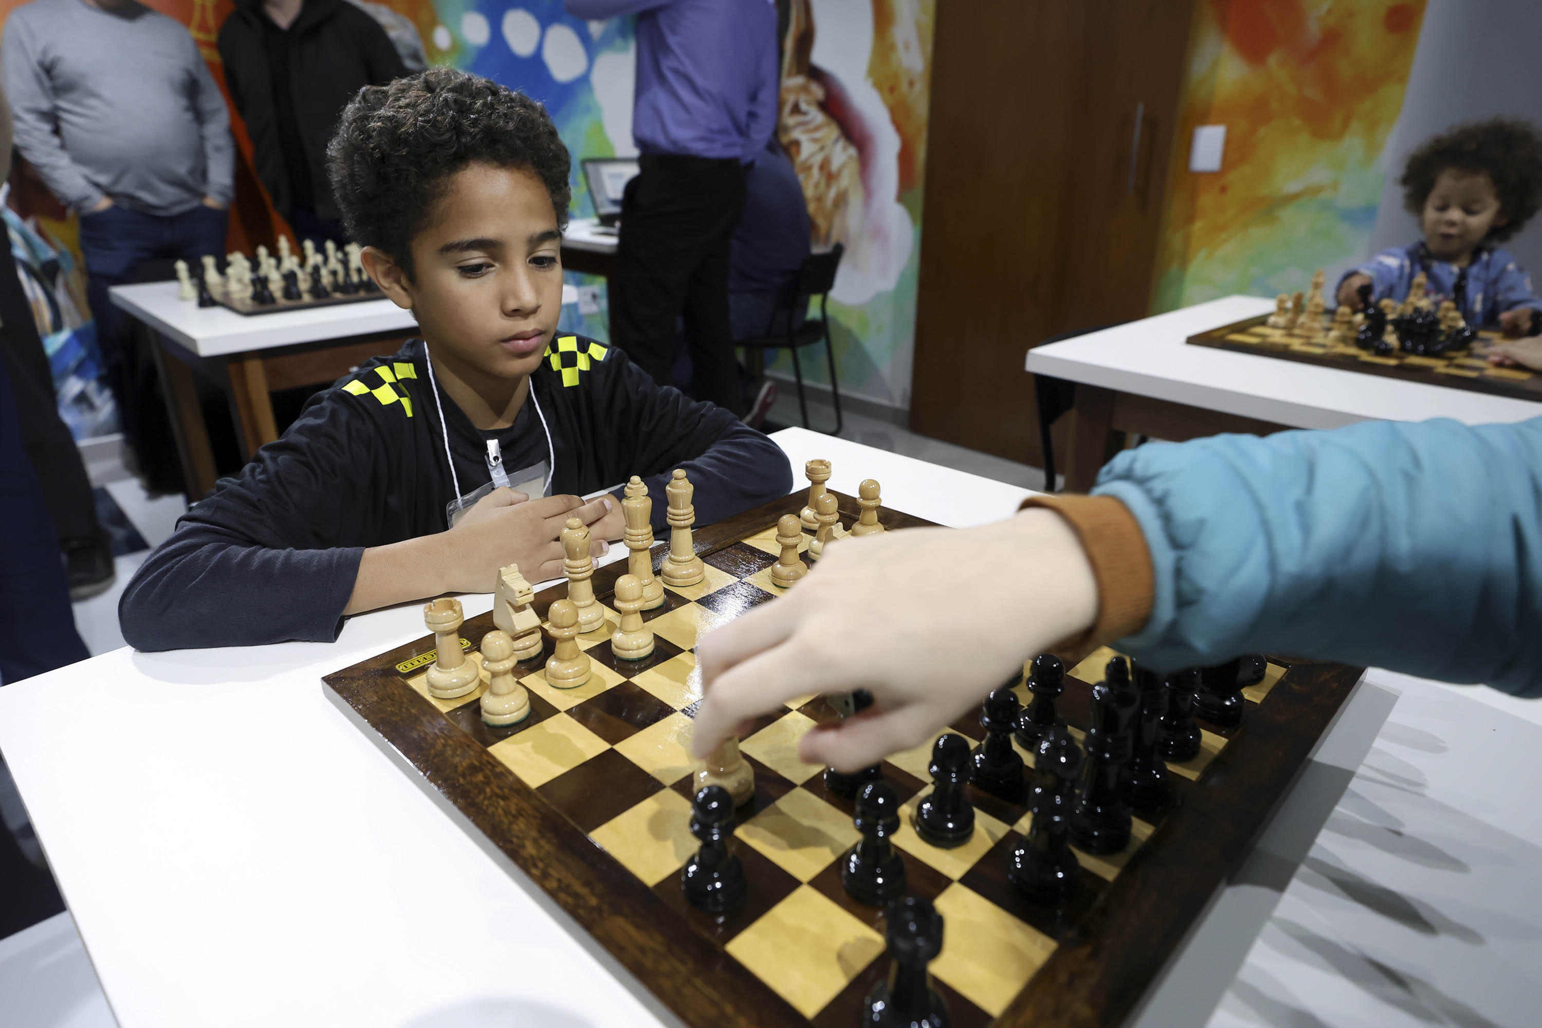
M1482 171L1494 183L1505 223L1488 231L1493 242L1520 231L1542 203L1542 134L1528 122L1496 117L1459 125L1409 154L1400 185L1411 214L1425 213L1436 179L1448 168Z

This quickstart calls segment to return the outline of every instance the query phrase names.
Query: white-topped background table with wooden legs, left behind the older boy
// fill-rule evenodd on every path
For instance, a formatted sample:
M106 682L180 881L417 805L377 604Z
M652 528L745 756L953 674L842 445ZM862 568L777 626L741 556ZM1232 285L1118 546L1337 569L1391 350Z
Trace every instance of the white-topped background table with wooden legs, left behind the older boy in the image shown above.
M389 299L237 314L179 301L176 282L114 285L109 296L150 330L193 499L208 493L216 478L194 370L225 388L242 456L251 459L258 447L279 436L273 391L333 382L370 358L395 353L418 328L412 311ZM564 285L561 302L577 304L578 290Z

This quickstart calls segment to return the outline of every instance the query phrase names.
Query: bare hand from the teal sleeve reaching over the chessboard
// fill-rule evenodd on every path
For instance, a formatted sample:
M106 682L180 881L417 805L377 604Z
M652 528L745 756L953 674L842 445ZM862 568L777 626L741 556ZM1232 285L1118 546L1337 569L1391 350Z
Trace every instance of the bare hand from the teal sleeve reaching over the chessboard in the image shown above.
M865 768L927 741L1096 616L1092 566L1052 510L842 539L786 596L697 644L706 698L691 747L703 757L793 697L867 689L868 711L799 744L808 763Z

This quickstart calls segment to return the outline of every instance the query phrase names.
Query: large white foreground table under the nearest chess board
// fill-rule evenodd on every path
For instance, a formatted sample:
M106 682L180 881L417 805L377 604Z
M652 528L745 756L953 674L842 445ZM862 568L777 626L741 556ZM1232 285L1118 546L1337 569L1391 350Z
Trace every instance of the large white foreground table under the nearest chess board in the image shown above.
M830 458L833 487L873 476L941 522L1027 495L774 438L794 469ZM125 649L0 689L0 749L125 1028L674 1022L325 700L321 675L421 633L406 604L333 644ZM1143 1023L1523 1023L1542 1002L1542 727L1383 678L1408 689L1392 721L1362 686Z

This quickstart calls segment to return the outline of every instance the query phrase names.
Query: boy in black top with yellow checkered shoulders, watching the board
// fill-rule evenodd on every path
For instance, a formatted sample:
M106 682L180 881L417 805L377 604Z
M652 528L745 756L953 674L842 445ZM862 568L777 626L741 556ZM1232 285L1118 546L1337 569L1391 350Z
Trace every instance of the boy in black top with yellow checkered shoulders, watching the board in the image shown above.
M625 527L615 496L578 495L631 475L655 532L677 467L699 524L791 492L763 435L557 331L569 159L538 103L433 68L362 89L327 157L364 265L423 338L316 395L188 510L123 593L128 643L330 641L350 613L490 592L507 564L558 576L567 518L600 553Z

